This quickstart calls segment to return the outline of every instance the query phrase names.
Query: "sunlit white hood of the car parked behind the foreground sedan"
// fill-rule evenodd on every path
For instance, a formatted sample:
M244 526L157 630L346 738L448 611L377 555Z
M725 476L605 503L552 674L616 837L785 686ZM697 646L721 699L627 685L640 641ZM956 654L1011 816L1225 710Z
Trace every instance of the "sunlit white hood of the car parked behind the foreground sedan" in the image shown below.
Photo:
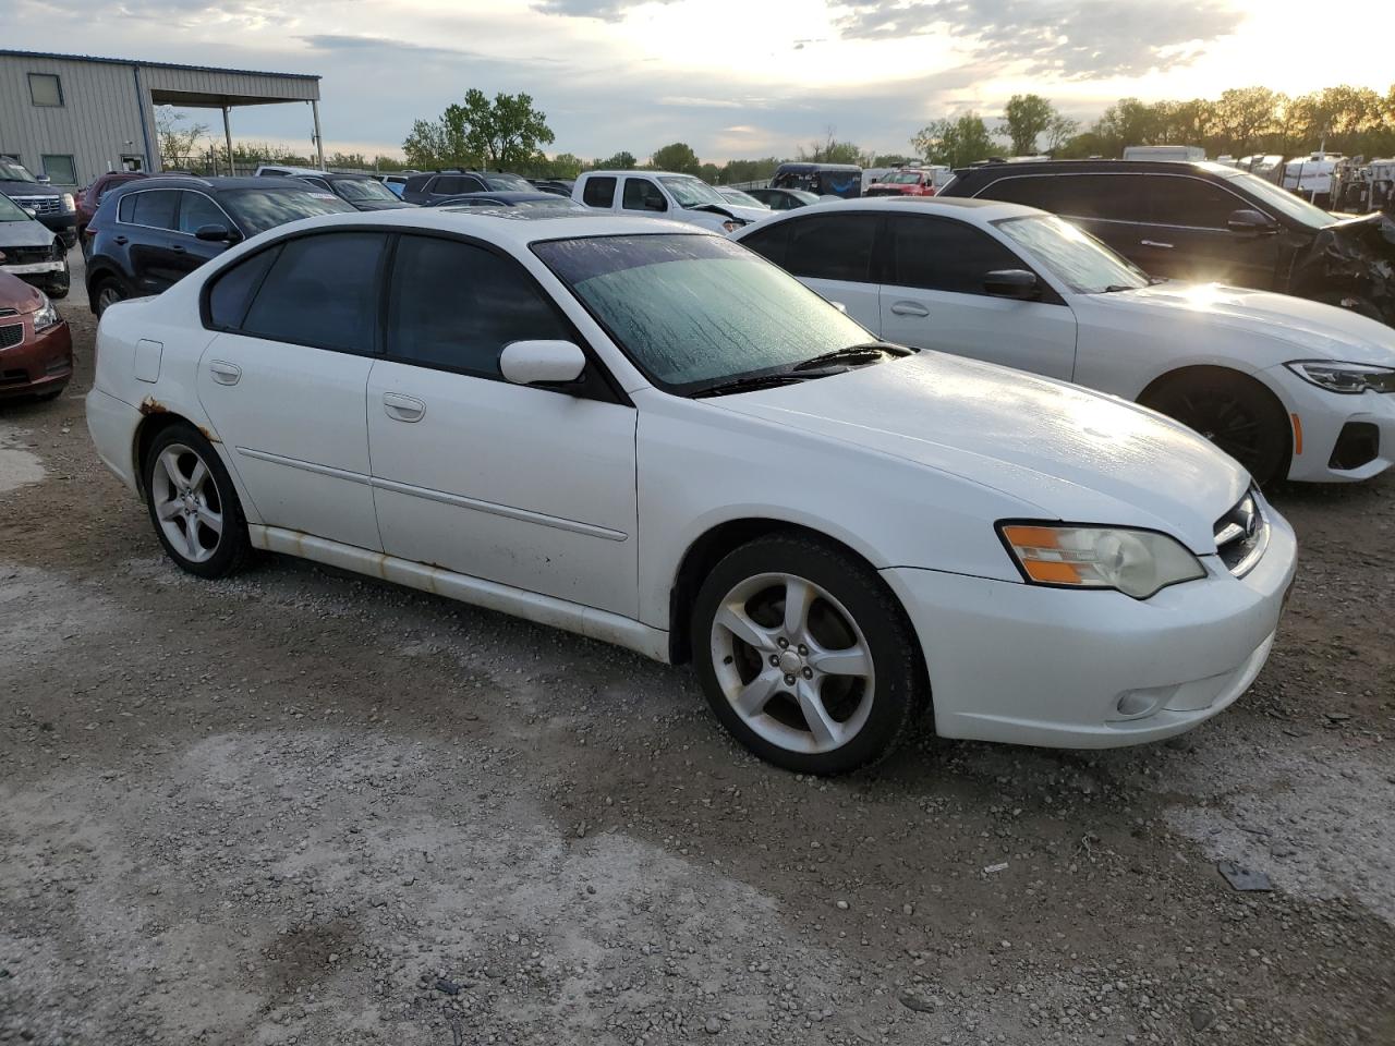
M1089 307L1136 311L1148 324L1201 319L1247 333L1261 332L1293 346L1292 358L1328 358L1395 367L1395 328L1350 310L1267 290L1216 283L1158 283L1115 294L1091 294Z

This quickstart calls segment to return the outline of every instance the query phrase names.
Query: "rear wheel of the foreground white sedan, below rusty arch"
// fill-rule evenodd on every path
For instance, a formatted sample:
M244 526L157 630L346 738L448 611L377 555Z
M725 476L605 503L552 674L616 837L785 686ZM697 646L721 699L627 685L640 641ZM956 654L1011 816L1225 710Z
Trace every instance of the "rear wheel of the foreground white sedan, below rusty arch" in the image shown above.
M218 452L193 427L162 430L141 467L145 505L165 552L199 577L226 577L251 556L247 520Z

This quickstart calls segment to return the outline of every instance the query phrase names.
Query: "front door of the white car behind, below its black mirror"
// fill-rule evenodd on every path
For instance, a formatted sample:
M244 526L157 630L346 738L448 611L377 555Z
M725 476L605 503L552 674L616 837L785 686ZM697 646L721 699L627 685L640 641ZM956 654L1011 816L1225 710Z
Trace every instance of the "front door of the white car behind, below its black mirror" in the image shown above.
M992 297L983 276L1032 268L989 233L953 218L887 216L882 336L889 342L1070 381L1076 315L1045 283L1043 300Z

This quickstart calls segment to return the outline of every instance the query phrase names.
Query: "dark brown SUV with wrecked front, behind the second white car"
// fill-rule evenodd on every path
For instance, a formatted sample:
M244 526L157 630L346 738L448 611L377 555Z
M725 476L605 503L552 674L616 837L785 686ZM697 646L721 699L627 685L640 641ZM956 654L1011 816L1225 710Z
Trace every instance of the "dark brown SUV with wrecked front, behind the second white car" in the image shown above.
M1154 276L1276 290L1395 325L1395 219L1338 219L1219 163L986 163L954 172L940 195L1050 211Z

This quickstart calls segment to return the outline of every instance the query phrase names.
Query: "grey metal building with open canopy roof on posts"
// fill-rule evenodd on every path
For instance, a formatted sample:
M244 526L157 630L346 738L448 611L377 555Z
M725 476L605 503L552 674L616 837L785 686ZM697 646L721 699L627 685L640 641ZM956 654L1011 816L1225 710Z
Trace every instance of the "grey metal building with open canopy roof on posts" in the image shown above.
M319 77L173 66L0 49L0 156L54 185L85 185L109 170L160 169L155 106L218 109L232 153L229 110L310 103L319 166Z

